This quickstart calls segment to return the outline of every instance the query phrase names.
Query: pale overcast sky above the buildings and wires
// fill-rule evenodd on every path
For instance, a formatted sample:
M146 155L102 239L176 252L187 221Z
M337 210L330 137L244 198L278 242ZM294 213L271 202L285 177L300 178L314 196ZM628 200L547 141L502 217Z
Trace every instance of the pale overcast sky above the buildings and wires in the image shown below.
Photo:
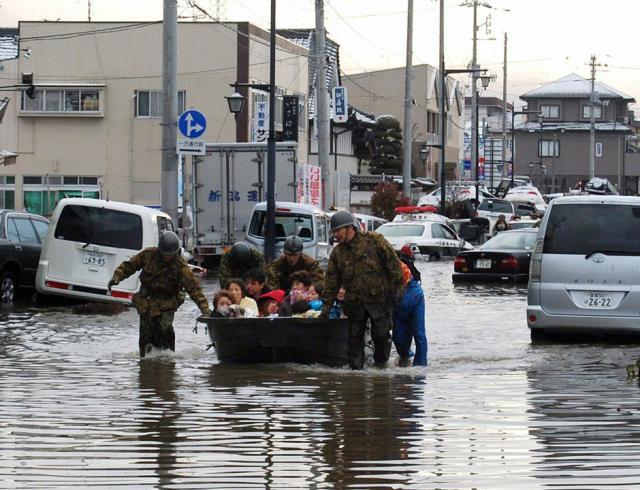
M213 15L215 0L195 0ZM269 0L220 0L226 19L269 27ZM450 68L471 60L472 11L464 0L445 0L445 51ZM478 8L478 23L488 15L490 33L479 29L478 62L498 75L487 95L502 96L504 33L509 36L508 99L575 72L589 76L591 54L598 62L597 79L640 100L640 60L635 30L640 0L487 0ZM95 21L161 20L161 0L90 0ZM181 16L193 15L178 0ZM312 28L313 0L278 0L278 28ZM509 10L509 11L506 11ZM88 0L0 0L0 23L16 27L19 20L87 20ZM325 25L340 44L341 67L358 73L403 66L406 49L407 1L325 0ZM438 62L438 1L414 0L414 64ZM490 40L487 38L495 38ZM465 79L466 81L466 79ZM399 87L403 90L403 87ZM520 102L518 102L520 104ZM640 105L635 107L640 108Z

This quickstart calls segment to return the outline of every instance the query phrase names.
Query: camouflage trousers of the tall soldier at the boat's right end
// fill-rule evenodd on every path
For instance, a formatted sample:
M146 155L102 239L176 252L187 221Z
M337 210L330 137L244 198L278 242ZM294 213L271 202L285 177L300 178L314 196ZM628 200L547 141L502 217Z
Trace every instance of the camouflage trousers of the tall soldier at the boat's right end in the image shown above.
M349 367L364 368L364 345L367 320L371 320L373 361L384 364L391 354L391 311L387 306L374 304L345 304L349 318Z

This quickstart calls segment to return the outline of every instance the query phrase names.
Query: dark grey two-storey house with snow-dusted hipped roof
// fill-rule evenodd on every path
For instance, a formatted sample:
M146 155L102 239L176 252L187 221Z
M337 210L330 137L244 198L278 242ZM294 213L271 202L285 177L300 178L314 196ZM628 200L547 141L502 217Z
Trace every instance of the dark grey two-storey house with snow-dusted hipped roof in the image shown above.
M635 99L595 82L595 176L637 192L638 154L627 153ZM572 73L520 96L530 114L514 128L516 174L529 174L545 192L589 178L591 81Z

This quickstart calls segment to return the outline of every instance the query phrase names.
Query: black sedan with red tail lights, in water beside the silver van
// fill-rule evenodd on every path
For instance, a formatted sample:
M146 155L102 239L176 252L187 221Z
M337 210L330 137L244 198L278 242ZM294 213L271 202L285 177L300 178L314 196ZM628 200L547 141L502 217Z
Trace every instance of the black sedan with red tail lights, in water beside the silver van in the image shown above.
M453 281L529 281L529 262L537 228L498 233L477 250L460 252Z

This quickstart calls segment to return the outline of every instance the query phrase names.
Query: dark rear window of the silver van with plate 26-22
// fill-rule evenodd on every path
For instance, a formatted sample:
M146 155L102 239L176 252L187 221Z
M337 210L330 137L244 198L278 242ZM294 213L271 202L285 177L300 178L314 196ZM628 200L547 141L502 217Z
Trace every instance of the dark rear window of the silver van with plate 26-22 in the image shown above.
M594 252L640 255L640 206L558 204L544 235L544 253L588 255Z

